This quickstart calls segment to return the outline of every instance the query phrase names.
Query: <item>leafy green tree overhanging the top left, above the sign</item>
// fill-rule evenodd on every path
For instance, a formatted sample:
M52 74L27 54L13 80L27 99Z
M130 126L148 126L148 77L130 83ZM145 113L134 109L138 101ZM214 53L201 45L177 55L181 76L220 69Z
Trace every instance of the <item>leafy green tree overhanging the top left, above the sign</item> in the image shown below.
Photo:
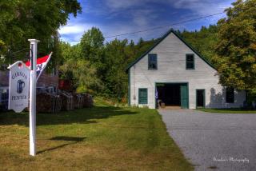
M23 59L29 46L27 39L39 39L38 51L49 53L58 46L58 28L66 25L69 14L74 17L82 10L77 0L13 0L0 1L0 40L6 46L2 53L7 62L13 61L13 53L24 49L24 53L15 54L15 58ZM54 53L56 57L57 53Z

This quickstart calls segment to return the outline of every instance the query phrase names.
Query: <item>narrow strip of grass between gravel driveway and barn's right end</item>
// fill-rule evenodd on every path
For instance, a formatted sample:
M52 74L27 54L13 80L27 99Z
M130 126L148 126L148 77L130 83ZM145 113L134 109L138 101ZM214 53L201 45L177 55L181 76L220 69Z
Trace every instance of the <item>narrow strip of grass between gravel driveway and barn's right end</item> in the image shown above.
M209 113L256 113L256 110L246 109L197 109Z

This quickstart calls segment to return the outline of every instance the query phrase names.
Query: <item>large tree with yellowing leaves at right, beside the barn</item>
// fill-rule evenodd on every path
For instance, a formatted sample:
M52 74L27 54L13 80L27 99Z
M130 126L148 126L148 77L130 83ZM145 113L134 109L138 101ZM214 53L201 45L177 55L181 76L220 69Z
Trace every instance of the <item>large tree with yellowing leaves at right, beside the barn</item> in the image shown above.
M214 62L222 85L252 90L256 87L256 0L238 0L219 20Z

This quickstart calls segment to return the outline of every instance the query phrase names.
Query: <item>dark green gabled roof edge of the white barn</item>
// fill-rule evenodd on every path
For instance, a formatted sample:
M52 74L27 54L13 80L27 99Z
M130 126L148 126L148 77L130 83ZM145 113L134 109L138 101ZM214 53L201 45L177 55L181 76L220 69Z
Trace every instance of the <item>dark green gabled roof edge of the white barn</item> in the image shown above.
M158 46L158 44L160 42L162 42L169 34L173 33L178 39L180 39L186 46L188 46L190 48L190 50L192 50L194 52L194 54L197 54L199 58L202 58L202 60L204 62L206 62L210 67L212 67L214 70L217 70L213 64L211 64L209 61L207 61L206 58L204 58L202 56L202 54L199 54L197 50L195 50L192 46L190 46L190 44L188 42L186 42L178 33L176 33L176 31L174 31L173 29L170 29L169 31L167 31L166 34L164 34L162 36L162 38L160 38L158 40L158 42L156 42L154 44L154 46L150 47L149 50L147 50L144 54L142 54L142 56L140 56L139 58L137 58L134 62L130 63L130 65L126 68L126 71L128 71L130 69L130 67L134 66L137 62L139 62L143 57L146 56L146 54L149 54L151 50L154 49L154 47Z

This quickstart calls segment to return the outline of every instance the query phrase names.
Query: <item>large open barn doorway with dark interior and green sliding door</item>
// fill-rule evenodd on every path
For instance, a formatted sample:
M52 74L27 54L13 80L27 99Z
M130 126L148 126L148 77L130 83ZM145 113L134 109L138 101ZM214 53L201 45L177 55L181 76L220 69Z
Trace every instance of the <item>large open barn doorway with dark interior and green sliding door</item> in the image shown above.
M156 101L158 108L188 109L187 83L156 84Z

